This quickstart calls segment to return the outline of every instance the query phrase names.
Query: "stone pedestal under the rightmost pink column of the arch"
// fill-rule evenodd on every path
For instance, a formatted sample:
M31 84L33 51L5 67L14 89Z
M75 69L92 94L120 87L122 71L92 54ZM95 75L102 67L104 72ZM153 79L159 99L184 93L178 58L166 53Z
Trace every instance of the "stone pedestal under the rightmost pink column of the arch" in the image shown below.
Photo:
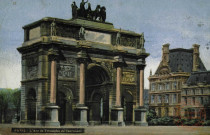
M148 123L146 121L146 112L147 110L144 107L135 109L135 125L148 126Z

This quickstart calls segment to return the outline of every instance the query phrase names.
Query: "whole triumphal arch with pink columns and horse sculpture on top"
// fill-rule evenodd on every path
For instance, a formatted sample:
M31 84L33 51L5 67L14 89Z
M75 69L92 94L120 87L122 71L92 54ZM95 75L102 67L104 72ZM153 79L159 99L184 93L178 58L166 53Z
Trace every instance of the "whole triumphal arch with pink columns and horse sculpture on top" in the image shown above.
M21 123L147 125L144 35L114 28L106 8L23 27Z

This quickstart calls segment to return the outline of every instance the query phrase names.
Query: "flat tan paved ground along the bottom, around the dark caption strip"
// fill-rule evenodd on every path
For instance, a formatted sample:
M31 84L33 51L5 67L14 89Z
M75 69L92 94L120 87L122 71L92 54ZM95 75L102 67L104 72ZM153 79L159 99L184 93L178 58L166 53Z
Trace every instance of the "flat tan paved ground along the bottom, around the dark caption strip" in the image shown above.
M15 127L30 127L30 128L44 128L35 126L22 126L15 124L0 124L0 135L56 135L52 133L11 133L11 128ZM77 128L75 126L65 126L61 128ZM84 127L85 133L72 135L210 135L210 127L208 126L89 126ZM57 133L58 134L58 133ZM68 133L69 134L69 133ZM58 135L66 135L59 133Z

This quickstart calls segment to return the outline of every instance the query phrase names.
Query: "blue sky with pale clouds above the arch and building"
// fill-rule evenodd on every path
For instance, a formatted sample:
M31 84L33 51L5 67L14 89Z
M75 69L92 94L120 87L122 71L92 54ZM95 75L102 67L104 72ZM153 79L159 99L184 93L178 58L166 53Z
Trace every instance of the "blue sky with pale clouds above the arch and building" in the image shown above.
M77 6L81 0L75 0ZM0 88L21 86L21 55L17 51L24 39L22 26L44 17L72 18L73 0L0 0ZM162 45L192 48L200 45L200 57L210 70L209 0L89 0L106 7L107 22L115 28L144 32L146 59L145 88L148 77L161 60Z

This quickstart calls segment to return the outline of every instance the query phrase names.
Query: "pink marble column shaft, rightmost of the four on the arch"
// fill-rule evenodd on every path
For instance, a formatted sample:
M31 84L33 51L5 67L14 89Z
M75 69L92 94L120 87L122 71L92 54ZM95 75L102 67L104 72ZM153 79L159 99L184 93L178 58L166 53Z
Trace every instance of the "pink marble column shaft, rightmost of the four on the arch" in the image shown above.
M139 106L144 106L144 69L140 70Z

